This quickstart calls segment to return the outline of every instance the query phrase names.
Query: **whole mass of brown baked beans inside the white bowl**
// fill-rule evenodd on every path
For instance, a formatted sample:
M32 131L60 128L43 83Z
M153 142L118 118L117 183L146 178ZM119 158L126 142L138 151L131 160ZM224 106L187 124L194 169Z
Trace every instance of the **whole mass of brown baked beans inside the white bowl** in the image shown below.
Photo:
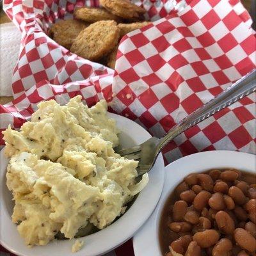
M161 224L166 227L169 222L168 236L171 242L176 239L168 256L256 256L253 179L255 175L244 173L242 178L235 169L213 169L185 177L175 190L174 200L166 204L165 211L172 209L172 216L166 214ZM190 236L185 245L184 236ZM168 248L168 241L161 243Z

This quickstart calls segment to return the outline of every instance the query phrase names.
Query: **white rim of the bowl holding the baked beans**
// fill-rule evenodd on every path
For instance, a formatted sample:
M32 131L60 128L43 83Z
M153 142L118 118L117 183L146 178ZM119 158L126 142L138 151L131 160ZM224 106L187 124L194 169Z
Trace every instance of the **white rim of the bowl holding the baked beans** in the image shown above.
M168 196L189 173L204 172L212 168L236 168L256 173L256 157L235 151L207 151L182 157L166 166L164 188L159 203L152 216L133 237L136 256L162 256L159 221Z

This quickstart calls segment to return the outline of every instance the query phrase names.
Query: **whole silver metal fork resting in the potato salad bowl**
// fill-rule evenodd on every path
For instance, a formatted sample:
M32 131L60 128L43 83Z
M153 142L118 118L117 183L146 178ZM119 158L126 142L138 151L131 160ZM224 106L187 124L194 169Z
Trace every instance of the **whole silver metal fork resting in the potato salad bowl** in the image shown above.
M137 168L138 175L148 172L154 165L161 149L180 133L202 122L209 116L214 115L214 113L217 113L221 109L227 108L227 106L237 102L237 100L242 99L246 95L255 92L255 74L256 69L253 69L250 73L246 74L246 76L242 77L236 81L236 83L232 84L232 86L220 93L220 95L214 97L214 99L207 102L204 106L186 116L186 118L180 121L179 124L173 126L162 138L152 137L141 145L118 150L117 153L128 159L139 161Z

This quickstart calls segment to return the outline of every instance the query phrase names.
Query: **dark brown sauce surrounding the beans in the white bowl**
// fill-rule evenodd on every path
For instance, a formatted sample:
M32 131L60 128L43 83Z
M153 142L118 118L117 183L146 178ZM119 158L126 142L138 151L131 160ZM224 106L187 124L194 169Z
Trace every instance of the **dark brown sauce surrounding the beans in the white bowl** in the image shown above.
M229 169L223 169L223 170L220 170L220 171L223 172L225 170L229 170ZM203 173L209 174L210 172L211 172L211 170L209 170L207 172L203 172ZM256 175L255 174L248 173L248 172L241 172L241 173L242 173L241 179L237 178L237 180L239 180L239 181L243 180L243 181L247 182L249 185L256 183ZM184 182L184 180L182 180L182 182ZM180 184L182 182L180 182ZM214 184L215 184L215 182L214 182ZM228 184L230 185L230 182ZM190 184L189 189L191 189L192 186L193 185ZM162 211L162 214L161 214L161 220L160 220L160 225L159 225L159 244L160 244L161 252L162 252L163 255L166 255L168 252L170 252L170 250L169 250L170 244L180 237L180 234L178 234L176 232L173 232L168 227L168 224L170 224L174 221L172 219L173 204L175 204L176 201L181 200L179 194L176 191L176 188L173 191L173 193L166 200L166 203L164 204L164 208L163 208L163 211ZM214 192L212 191L211 193L214 193ZM188 205L191 205L191 204L188 204ZM250 220L248 220L248 221L250 221ZM237 227L239 227L238 224L236 225L236 228ZM212 228L214 228L214 227L212 227ZM189 234L189 232L186 232L186 233ZM192 232L190 232L190 234L191 234L191 236L193 236ZM224 237L224 236L221 236L220 239L222 237ZM202 250L202 255L207 255L207 250L203 249Z

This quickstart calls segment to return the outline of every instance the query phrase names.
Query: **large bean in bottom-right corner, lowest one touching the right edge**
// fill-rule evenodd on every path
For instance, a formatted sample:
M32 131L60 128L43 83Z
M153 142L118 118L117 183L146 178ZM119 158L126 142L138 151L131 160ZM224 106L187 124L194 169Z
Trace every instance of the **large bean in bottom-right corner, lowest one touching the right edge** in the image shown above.
M254 252L256 250L256 240L247 230L236 228L234 231L234 239L244 250L248 250L249 252Z

